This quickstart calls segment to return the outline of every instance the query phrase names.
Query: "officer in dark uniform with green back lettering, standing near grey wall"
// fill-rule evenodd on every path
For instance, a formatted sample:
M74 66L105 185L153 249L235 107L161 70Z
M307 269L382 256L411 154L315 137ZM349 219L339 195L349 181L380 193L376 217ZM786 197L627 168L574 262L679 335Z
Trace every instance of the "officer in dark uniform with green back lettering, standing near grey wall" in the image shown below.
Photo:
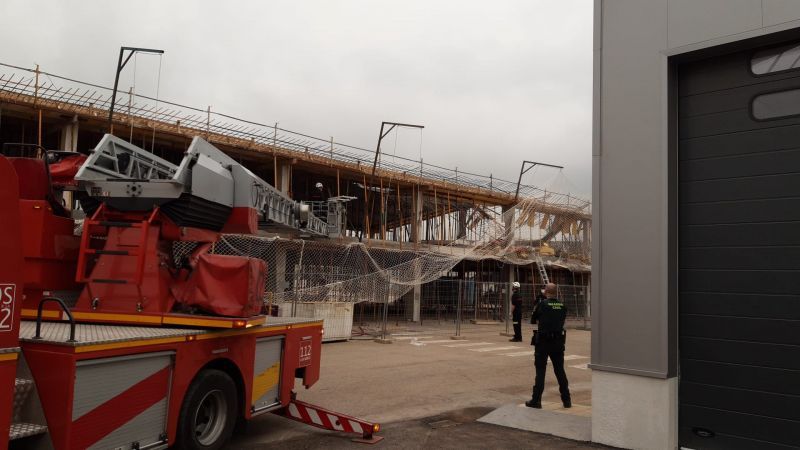
M534 366L536 367L536 380L533 384L533 397L525 402L531 408L542 407L542 393L544 392L544 374L547 370L547 358L553 362L553 371L558 380L558 390L561 393L561 402L565 408L572 407L572 398L569 395L569 382L567 373L564 372L564 344L566 331L564 319L567 308L556 298L556 285L548 283L544 289L544 299L540 300L531 315L531 323L539 323L539 329L533 332L532 344L535 346Z

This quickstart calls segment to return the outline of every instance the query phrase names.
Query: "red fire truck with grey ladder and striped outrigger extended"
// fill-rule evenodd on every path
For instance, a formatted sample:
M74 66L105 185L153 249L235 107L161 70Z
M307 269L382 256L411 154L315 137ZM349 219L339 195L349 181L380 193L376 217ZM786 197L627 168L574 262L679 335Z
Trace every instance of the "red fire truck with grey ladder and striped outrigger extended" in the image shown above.
M379 439L295 398L322 321L262 314L264 261L213 251L223 232L335 226L200 138L179 166L111 135L29 150L0 155L0 448L217 449L267 412Z

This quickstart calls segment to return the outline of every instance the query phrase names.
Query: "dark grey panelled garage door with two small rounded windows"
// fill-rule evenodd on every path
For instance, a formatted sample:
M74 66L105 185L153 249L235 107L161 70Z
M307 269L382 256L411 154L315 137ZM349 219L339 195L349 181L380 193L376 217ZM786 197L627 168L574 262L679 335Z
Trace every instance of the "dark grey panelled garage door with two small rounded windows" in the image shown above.
M679 439L800 446L800 45L678 67Z

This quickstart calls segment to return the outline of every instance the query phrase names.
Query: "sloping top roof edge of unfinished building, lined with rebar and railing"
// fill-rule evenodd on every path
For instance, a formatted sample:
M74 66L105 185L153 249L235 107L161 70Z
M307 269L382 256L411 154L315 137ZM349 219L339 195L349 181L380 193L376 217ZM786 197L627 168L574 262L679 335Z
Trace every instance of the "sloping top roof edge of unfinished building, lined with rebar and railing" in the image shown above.
M57 108L64 113L105 117L111 104L112 89L78 81L37 68L0 63L0 101L29 103L37 108ZM321 164L344 164L372 174L375 150L287 130L213 111L211 106L199 108L135 94L117 93L114 124L118 127L152 129L154 132L200 135L212 143L223 143L248 150L263 150L269 155L308 158ZM491 196L513 199L516 181L442 167L422 160L382 154L377 160L375 176L426 185L457 187L466 192L483 192ZM547 198L552 193L535 186L521 185L519 196ZM590 203L579 197L562 194L568 206L591 213Z

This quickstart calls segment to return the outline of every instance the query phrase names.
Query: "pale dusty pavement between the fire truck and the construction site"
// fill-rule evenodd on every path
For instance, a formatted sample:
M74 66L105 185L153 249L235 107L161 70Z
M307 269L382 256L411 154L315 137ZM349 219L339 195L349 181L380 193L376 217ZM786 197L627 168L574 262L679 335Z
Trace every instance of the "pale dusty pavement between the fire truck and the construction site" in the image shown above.
M401 430L405 427L417 430L414 433L422 432L424 427L419 428L419 424L424 424L421 422L423 418L454 414L454 411L476 411L476 408L488 414L495 408L520 404L530 398L533 383L530 331L526 327L523 342L511 343L500 335L504 329L503 325L463 325L464 340L454 341L449 338L453 332L452 324L402 326L392 330L395 342L389 345L366 339L325 344L322 348L321 380L310 390L298 385L298 398L381 422L384 424L382 434L387 437L379 444L381 447L422 448L412 445L412 442L420 442L409 440L410 431L403 433ZM570 330L567 334L566 366L575 405L573 410L583 416L591 413L591 371L585 368L589 362L590 338L589 331ZM558 401L558 386L549 368L543 402ZM473 423L474 419L458 425L460 430L458 433L453 431L452 439L468 434L469 430L474 429L480 434L479 431L489 433L495 428L499 431L492 434L493 439L505 439L509 433L517 432L528 435L528 439L538 436L527 431ZM410 446L393 447L395 444L389 438L394 433L402 435L403 441ZM423 435L451 439L446 436L448 433L451 432L428 428ZM329 447L327 440L332 437L342 439L341 435L290 423L268 414L254 419L248 425L247 433L237 436L230 448L259 448L278 441L284 447L295 440L297 445L311 445L308 439L322 439ZM503 448L502 442L496 442L497 448ZM430 442L424 444L427 447ZM461 445L461 448L469 447Z

